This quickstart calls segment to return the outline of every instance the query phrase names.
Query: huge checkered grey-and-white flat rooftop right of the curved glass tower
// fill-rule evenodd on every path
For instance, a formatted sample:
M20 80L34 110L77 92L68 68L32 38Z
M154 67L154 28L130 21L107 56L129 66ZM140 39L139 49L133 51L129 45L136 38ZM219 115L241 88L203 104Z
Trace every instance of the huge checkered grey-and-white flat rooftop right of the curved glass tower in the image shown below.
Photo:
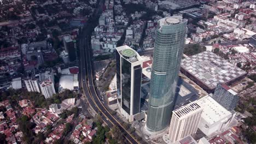
M246 71L208 51L182 59L181 67L210 89L246 74Z

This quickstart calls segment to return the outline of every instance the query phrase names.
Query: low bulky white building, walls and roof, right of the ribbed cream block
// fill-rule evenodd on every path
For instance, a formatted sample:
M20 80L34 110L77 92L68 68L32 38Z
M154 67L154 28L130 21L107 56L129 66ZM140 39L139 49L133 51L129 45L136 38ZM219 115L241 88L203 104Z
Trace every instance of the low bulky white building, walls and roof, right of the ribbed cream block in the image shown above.
M230 123L232 113L209 95L200 98L196 103L203 107L202 118L198 128L206 136L222 131Z

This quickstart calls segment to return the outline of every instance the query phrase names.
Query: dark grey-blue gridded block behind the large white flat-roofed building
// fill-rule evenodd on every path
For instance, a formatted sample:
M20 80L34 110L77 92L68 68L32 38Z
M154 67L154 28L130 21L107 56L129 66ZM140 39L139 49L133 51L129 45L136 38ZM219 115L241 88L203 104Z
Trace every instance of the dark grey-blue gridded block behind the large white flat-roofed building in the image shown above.
M236 108L239 96L225 83L219 83L212 96L220 105L231 111Z

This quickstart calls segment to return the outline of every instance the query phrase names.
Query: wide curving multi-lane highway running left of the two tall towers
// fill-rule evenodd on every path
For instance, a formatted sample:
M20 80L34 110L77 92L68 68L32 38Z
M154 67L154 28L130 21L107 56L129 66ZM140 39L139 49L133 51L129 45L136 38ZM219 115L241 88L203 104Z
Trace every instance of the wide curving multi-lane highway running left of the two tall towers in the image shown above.
M101 5L101 3L99 4ZM100 6L101 7L101 6ZM92 22L88 22L80 36L79 36L79 82L80 87L83 88L84 94L86 99L88 100L88 103L91 105L92 109L96 111L96 113L101 114L102 120L110 127L113 128L114 125L117 125L120 130L124 133L124 136L126 140L129 143L136 144L139 143L135 137L133 137L129 131L124 129L123 125L120 124L120 122L110 114L108 109L102 104L100 98L98 97L96 93L96 89L94 86L94 70L92 67L92 53L91 53L91 47L90 47L90 30L91 27L95 27L93 25L93 21L97 21L95 18L96 15L98 15L98 11L100 11L100 8L97 9L94 16L92 16ZM135 134L137 135L137 134Z

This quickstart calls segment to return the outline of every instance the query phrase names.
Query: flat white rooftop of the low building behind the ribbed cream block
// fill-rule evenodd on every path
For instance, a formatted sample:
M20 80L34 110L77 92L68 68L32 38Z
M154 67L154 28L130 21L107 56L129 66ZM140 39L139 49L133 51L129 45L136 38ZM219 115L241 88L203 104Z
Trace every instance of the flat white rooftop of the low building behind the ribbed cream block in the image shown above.
M196 103L203 107L202 118L209 124L216 123L232 115L231 112L209 95L197 100Z

